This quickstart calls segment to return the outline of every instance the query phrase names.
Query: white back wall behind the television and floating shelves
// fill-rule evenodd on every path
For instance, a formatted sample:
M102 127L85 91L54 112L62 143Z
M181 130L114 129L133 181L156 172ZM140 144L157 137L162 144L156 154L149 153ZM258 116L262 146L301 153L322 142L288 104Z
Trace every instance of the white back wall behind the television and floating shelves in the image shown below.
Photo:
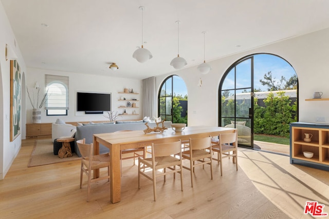
M42 111L42 123L55 122L57 118L62 118L66 122L87 122L87 121L106 121L102 114L84 114L84 112L76 111L76 92L77 91L88 91L88 92L104 92L112 93L112 111L118 111L123 113L124 108L118 108L121 105L125 105L126 102L118 101L121 96L126 99L136 98L139 101L136 102L138 109L128 109L127 113L132 113L132 110L136 110L139 115L123 115L119 120L130 120L142 118L142 83L137 79L128 79L111 76L95 76L93 74L81 74L63 71L52 71L45 69L28 68L28 77L26 79L26 86L28 87L30 94L33 90L35 82L40 85L41 91L45 90L45 74L61 75L69 77L69 110L67 116L47 116L46 110ZM120 94L124 88L132 88L137 95L133 94ZM34 90L35 91L35 90ZM133 103L133 102L132 102ZM26 121L32 123L32 106L28 97L26 96Z

